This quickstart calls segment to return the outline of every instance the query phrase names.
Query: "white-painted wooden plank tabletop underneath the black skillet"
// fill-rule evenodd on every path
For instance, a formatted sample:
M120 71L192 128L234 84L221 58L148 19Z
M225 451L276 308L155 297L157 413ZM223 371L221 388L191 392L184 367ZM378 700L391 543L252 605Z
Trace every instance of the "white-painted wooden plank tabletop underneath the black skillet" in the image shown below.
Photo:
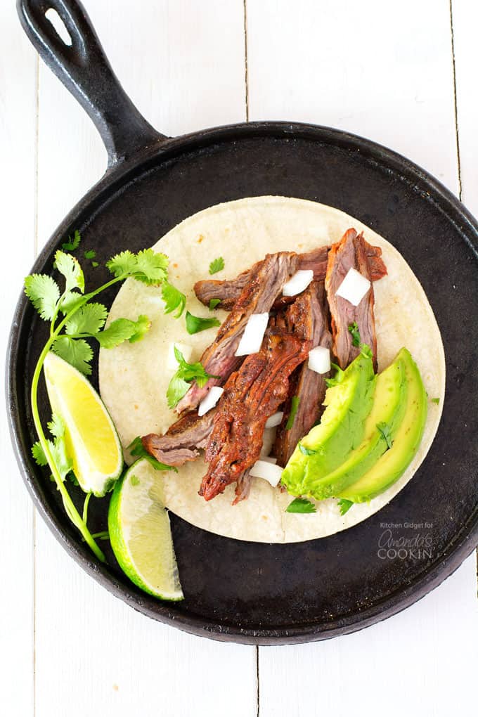
M174 135L242 120L351 130L478 214L476 0L84 0L140 111ZM105 169L90 120L0 4L1 336L22 277ZM4 355L4 349L2 349ZM1 417L0 711L14 717L476 714L477 564L363 632L244 647L150 621L37 518Z

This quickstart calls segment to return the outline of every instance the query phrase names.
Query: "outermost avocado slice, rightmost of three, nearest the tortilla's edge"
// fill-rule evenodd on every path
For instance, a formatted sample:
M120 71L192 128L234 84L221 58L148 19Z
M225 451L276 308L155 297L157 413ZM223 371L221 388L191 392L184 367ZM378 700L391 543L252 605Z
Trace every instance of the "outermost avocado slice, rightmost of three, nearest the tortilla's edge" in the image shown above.
M338 498L347 498L353 503L375 498L400 478L418 450L426 422L426 391L411 353L402 348L398 355L404 362L407 391L405 414L396 431L393 446L360 480L345 488Z

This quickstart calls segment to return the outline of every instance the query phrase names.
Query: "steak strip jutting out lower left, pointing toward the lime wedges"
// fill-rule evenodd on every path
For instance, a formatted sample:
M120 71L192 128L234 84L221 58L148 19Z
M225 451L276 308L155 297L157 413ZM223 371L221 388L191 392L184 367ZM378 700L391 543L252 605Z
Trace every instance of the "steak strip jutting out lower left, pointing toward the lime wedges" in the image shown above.
M211 433L216 409L201 418L197 411L190 411L168 428L163 436L150 433L141 438L145 450L166 465L183 465L196 460L199 448L205 448Z

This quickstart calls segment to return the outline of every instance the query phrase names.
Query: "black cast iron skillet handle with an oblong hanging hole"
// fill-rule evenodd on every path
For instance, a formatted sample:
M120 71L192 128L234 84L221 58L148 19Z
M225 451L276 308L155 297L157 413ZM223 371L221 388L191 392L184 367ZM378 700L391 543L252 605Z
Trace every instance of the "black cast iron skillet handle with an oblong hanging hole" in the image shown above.
M20 22L42 60L87 111L105 143L108 168L165 140L131 102L78 0L17 0ZM66 44L45 15L54 9L71 37Z

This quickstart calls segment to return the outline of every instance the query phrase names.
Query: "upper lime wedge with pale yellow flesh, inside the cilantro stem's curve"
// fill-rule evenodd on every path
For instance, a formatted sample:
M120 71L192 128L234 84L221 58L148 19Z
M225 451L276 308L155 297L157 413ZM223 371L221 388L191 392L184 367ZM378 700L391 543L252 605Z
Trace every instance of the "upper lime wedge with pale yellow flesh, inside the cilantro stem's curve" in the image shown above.
M64 422L64 440L73 471L85 493L101 497L123 470L123 451L105 404L80 371L47 354L44 376L52 411Z

